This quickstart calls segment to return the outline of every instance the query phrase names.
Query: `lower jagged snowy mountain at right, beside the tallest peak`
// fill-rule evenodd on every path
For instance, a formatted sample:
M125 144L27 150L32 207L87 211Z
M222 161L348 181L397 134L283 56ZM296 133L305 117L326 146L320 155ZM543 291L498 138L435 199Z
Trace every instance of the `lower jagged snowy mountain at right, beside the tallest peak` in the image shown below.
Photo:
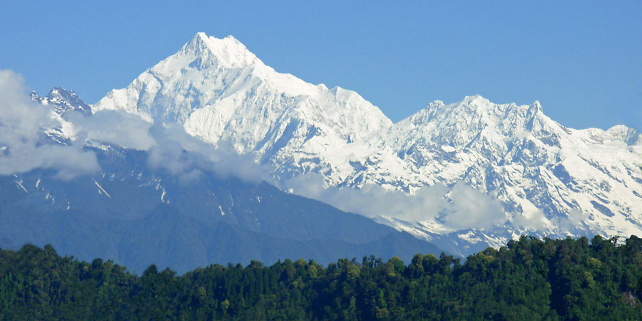
M575 130L545 116L539 102L517 106L469 96L447 106L429 104L372 146L382 147L373 148L379 153L370 159L392 158L409 170L386 171L386 165L365 162L355 173L359 180L348 184L412 190L464 182L501 201L506 229L490 233L502 239L642 231L642 135L633 128ZM439 223L419 223L392 224L428 234L444 230ZM463 233L462 240L469 236Z

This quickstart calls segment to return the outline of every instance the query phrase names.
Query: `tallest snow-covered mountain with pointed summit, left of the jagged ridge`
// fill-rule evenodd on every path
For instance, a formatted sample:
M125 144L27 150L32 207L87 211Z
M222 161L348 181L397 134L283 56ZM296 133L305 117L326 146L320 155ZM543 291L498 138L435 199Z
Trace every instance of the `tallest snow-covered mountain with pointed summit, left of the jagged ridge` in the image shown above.
M333 158L337 149L392 125L354 91L277 73L232 36L203 33L92 108L178 123L204 141L252 154L280 178L327 173L331 185L352 173Z

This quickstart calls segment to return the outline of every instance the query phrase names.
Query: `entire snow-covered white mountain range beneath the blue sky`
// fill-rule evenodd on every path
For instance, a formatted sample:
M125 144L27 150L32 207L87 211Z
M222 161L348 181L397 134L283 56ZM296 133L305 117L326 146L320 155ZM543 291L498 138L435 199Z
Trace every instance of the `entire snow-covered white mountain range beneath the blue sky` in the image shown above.
M353 91L277 73L233 37L199 33L91 108L178 124L252 156L277 182L318 173L327 187L407 193L463 182L505 210L495 228L458 231L439 215L402 220L382 209L383 222L424 238L494 244L520 233L642 234L641 134L625 126L566 128L538 102L435 101L392 124Z

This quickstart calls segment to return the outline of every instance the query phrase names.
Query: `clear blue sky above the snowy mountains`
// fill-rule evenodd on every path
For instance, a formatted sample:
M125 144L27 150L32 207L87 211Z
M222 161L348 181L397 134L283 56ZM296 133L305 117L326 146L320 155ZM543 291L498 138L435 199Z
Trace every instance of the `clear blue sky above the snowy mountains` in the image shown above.
M261 2L4 0L0 68L95 103L205 31L393 121L479 93L539 100L573 128L642 129L642 1Z

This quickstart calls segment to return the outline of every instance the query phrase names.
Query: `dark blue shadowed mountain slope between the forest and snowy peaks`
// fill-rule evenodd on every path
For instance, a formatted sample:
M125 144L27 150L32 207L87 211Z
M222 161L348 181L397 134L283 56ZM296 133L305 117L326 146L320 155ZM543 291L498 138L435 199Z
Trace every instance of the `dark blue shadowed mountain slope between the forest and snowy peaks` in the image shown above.
M135 272L213 263L330 263L434 253L434 245L316 200L202 173L184 181L148 165L148 154L95 149L102 171L71 180L34 170L0 178L0 247L50 243L83 260L113 259Z

